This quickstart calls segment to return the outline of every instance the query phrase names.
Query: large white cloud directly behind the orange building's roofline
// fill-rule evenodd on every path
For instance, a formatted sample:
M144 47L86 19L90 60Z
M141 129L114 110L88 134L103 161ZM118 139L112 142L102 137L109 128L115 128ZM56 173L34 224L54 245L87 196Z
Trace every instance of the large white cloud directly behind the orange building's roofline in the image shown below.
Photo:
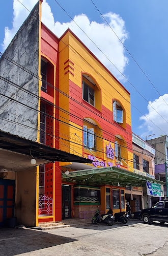
M31 10L37 3L37 0L20 0L20 2ZM13 1L14 18L13 27L9 29L5 28L5 38L3 43L4 50L10 43L11 39L22 25L24 19L29 15L27 11L17 0ZM66 15L63 13L63 15ZM128 38L128 33L125 29L125 22L116 13L104 14L110 26L114 29L121 41ZM124 73L128 58L125 56L124 47L118 40L116 35L111 31L104 21L97 23L95 21L90 22L89 18L85 14L75 15L73 18L79 27L85 31L85 33L95 42L95 44L101 49L101 51L114 63L114 65ZM60 37L67 28L70 28L79 39L96 55L98 59L118 78L123 79L123 76L116 70L116 68L110 63L110 61L97 49L97 47L91 42L91 40L76 26L71 20L69 23L54 22L53 14L50 6L46 3L46 0L42 3L42 22L58 37Z

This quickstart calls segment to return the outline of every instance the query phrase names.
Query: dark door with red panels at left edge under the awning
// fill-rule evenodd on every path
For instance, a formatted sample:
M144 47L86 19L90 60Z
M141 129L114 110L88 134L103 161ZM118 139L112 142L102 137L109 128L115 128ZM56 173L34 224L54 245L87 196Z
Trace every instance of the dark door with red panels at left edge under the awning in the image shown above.
M5 221L14 217L15 181L0 180L0 227Z

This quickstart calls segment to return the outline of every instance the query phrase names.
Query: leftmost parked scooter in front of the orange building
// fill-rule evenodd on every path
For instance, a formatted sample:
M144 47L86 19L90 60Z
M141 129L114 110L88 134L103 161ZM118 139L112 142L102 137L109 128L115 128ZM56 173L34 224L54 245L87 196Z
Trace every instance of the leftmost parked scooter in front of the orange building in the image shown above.
M102 214L101 216L99 216L99 209L96 209L95 215L92 218L92 224L97 224L97 223L104 223L104 224L108 224L109 226L113 226L114 224L114 217L113 214Z

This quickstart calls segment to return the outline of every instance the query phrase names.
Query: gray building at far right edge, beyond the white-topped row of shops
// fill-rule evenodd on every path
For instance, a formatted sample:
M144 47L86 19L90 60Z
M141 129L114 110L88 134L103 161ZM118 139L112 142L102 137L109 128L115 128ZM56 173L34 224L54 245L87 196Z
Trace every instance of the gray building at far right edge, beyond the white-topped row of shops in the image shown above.
M155 178L165 182L165 162L168 161L168 137L166 135L148 140L148 143L155 148ZM166 196L166 186L164 186Z

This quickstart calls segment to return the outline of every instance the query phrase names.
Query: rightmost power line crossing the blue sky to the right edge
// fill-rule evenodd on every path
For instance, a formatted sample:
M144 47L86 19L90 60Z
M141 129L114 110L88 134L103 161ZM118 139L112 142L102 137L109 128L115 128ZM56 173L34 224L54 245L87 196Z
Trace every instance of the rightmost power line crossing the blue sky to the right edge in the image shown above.
M146 73L143 71L143 69L141 68L141 66L139 66L139 64L137 63L137 61L135 60L135 58L132 56L132 54L130 53L130 51L126 48L126 46L123 44L122 40L119 38L119 36L116 34L116 32L114 31L113 28L111 28L111 26L109 25L109 23L107 22L106 18L103 16L103 14L100 12L100 10L98 9L98 7L94 4L94 2L91 0L91 2L93 3L93 5L96 7L96 9L98 10L98 12L100 13L100 15L103 17L103 19L105 20L105 22L107 23L107 25L110 27L110 29L113 31L113 33L117 36L117 38L119 39L119 41L121 42L121 44L123 45L123 47L125 48L125 50L129 53L129 55L131 56L131 58L134 60L134 62L136 63L136 65L138 66L138 68L143 72L143 74L146 76L146 78L148 79L148 81L152 84L152 86L154 87L154 89L156 90L156 92L160 95L160 97L164 100L164 98L161 96L161 94L159 93L159 91L157 90L157 88L154 86L154 84L151 82L151 80L149 79L149 77L146 75ZM167 102L164 100L164 102L167 104ZM168 104L167 104L168 106Z

